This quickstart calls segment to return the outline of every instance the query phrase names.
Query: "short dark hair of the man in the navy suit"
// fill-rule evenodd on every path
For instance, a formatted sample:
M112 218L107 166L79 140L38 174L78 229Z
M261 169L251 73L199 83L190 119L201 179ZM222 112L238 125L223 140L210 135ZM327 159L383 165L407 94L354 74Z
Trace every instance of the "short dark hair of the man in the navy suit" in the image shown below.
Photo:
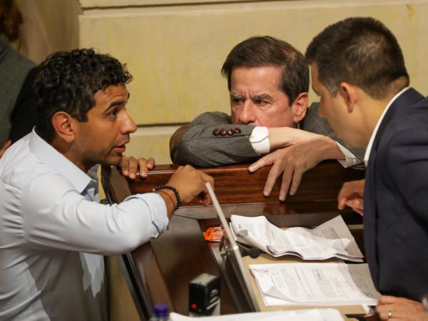
M332 96L342 81L355 83L368 95L383 99L391 85L409 75L397 39L382 22L373 18L348 18L327 26L307 47L307 63L315 63L319 81Z

